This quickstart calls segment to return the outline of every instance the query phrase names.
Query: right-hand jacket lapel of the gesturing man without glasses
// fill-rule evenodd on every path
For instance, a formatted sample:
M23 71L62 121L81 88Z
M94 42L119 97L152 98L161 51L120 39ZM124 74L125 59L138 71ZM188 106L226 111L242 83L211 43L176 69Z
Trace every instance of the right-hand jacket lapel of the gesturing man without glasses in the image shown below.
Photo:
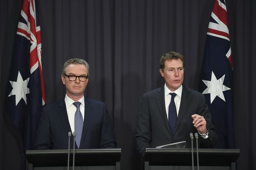
M186 110L187 110L187 106L189 104L190 101L190 95L189 95L189 90L183 86L182 87L182 94L181 94L181 102L180 102L180 109L179 109L179 114L178 114L178 119L177 119L177 123L176 123L176 128L175 131L178 129L180 122L182 120L182 118L184 117ZM192 118L191 118L192 121Z

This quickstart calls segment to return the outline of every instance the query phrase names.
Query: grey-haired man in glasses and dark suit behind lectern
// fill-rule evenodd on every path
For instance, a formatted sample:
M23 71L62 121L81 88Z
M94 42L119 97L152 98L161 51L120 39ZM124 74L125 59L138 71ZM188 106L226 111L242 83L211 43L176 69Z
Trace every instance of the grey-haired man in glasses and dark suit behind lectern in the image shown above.
M105 104L84 96L88 63L77 58L68 60L61 80L66 86L65 99L42 109L34 149L68 149L69 132L75 132L76 149L116 148ZM71 146L73 142L72 136Z

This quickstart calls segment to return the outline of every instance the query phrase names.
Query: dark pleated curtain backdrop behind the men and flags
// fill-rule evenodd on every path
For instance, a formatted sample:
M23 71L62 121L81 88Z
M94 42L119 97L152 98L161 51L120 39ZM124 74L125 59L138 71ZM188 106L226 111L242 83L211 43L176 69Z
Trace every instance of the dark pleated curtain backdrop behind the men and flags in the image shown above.
M238 169L256 169L256 2L226 0L233 55L234 130ZM159 58L185 56L184 84L198 89L206 30L214 0L36 1L41 26L46 103L62 99L63 62L90 64L86 95L106 103L113 121L121 168L138 169L135 130L141 96L163 86ZM20 136L3 112L22 1L1 0L0 169L18 169ZM214 160L213 160L214 161Z

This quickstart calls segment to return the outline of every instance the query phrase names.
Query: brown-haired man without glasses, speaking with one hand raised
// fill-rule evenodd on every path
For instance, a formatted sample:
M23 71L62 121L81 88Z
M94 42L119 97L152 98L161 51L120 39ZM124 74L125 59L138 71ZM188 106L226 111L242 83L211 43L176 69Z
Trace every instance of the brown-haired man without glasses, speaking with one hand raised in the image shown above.
M143 95L137 133L136 148L143 157L145 148L156 148L174 142L186 141L191 145L189 133L199 133L201 148L211 148L217 138L205 97L186 88L183 83L184 60L176 52L164 54L160 59L160 74L164 87Z

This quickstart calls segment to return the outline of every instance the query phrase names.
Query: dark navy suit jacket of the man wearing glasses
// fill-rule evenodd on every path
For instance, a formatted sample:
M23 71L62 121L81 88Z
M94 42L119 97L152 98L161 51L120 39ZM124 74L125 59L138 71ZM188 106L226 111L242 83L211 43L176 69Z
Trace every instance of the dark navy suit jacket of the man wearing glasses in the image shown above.
M85 113L79 149L116 148L114 131L105 104L84 96ZM68 149L71 132L65 101L42 109L34 149ZM73 148L71 135L70 148ZM77 149L77 145L75 144Z

